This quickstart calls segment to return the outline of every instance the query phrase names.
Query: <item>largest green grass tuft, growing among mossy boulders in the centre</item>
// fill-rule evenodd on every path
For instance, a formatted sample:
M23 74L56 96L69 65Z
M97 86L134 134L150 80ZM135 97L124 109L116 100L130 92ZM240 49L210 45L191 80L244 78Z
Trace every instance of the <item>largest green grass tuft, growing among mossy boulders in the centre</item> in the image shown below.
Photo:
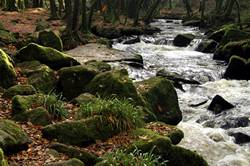
M120 131L141 127L144 124L141 108L135 107L126 99L97 98L93 102L81 105L77 116L78 119L101 116Z

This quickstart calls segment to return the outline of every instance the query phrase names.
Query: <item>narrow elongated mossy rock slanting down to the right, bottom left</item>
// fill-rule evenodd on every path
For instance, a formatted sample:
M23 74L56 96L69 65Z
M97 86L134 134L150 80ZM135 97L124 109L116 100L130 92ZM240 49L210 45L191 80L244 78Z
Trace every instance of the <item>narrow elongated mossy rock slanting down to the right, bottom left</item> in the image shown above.
M66 154L67 156L71 158L77 158L84 162L88 166L93 166L97 162L97 156L94 154L91 154L85 150L77 149L73 146L61 144L61 143L52 143L50 145L51 149L56 150L59 153Z

